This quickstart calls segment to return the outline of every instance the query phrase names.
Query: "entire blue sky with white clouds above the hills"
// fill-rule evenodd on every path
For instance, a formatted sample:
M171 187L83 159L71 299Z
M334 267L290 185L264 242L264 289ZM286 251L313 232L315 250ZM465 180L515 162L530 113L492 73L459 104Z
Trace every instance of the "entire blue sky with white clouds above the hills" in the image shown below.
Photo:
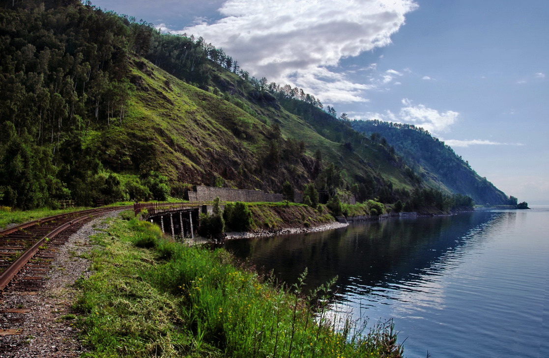
M519 201L549 203L549 2L96 0L193 33L350 118L412 123Z

